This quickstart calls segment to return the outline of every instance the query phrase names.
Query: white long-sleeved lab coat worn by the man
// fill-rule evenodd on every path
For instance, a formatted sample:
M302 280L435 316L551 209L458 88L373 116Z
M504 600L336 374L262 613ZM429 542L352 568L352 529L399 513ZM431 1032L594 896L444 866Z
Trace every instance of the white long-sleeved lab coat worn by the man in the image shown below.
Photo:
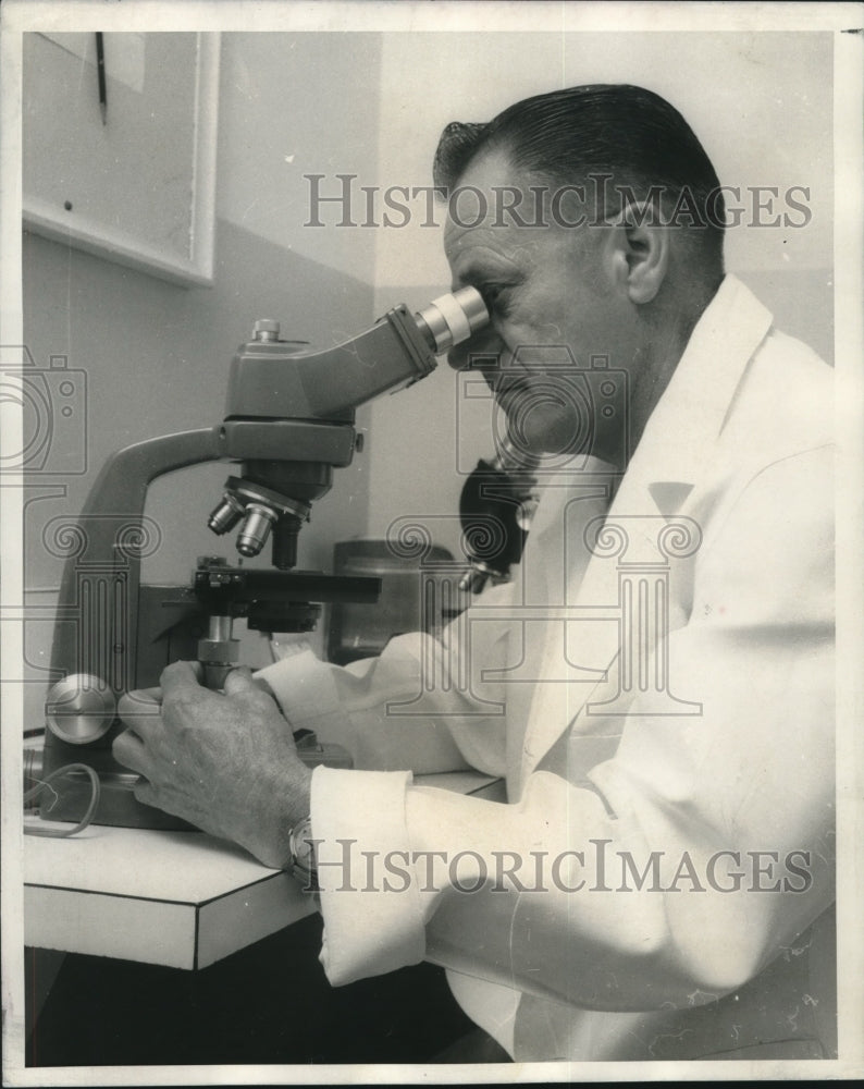
M350 840L361 874L321 869L332 982L434 960L522 1061L831 1053L831 428L830 369L727 277L594 553L596 464L548 484L513 584L448 646L263 671L369 769L313 775L319 861ZM625 583L650 623L622 650ZM411 782L464 767L507 804ZM431 851L472 852L458 883L482 888L430 879ZM392 852L410 880L383 891ZM502 852L521 886L482 881Z

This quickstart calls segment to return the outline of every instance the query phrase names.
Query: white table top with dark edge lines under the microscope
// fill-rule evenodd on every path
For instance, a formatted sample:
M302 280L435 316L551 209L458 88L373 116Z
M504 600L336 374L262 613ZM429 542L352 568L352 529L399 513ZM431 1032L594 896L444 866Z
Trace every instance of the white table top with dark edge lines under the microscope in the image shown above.
M202 832L27 836L27 945L205 968L316 910L282 870Z

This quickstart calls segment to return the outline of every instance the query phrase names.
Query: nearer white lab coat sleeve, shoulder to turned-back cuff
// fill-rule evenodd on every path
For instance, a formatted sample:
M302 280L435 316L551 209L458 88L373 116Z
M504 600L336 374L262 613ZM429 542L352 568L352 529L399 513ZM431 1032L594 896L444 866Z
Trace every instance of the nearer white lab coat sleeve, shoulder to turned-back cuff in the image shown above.
M316 771L316 835L361 827L375 890L324 883L332 982L424 956L585 1008L687 1007L793 944L834 898L830 467L829 450L778 462L732 504L668 638L701 713L637 699L592 788L540 770L501 805ZM392 849L414 865L387 885Z

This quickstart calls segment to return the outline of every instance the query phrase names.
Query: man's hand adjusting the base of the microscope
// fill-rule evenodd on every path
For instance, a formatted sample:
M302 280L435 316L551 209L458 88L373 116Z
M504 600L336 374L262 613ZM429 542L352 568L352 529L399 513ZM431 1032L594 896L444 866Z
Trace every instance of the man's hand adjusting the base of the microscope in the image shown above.
M224 695L202 688L189 662L169 665L160 683L120 701L128 730L113 752L143 776L135 797L285 866L311 771L275 701L245 669L229 673Z

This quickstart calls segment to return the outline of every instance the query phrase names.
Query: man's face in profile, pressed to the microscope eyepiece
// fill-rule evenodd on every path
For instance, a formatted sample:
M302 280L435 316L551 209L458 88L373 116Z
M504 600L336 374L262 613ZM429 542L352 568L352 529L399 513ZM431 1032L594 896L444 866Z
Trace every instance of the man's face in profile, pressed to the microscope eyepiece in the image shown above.
M584 435L584 401L573 393L576 368L565 348L580 368L602 355L609 367L630 370L638 355L633 307L609 260L610 230L567 228L552 222L547 211L548 227L522 227L513 216L499 215L496 186L517 186L533 200L529 185L538 184L520 178L499 152L481 156L458 184L482 191L489 212L477 227L459 225L473 223L479 206L464 194L456 206L459 222L447 221L444 249L454 290L477 287L491 323L449 354L450 366L483 371L501 407L518 419L531 451L580 452L573 439ZM540 218L528 200L521 216L529 223ZM612 421L596 415L592 449L581 452L614 460L609 451L620 448L620 436L612 431L621 427L620 414Z

